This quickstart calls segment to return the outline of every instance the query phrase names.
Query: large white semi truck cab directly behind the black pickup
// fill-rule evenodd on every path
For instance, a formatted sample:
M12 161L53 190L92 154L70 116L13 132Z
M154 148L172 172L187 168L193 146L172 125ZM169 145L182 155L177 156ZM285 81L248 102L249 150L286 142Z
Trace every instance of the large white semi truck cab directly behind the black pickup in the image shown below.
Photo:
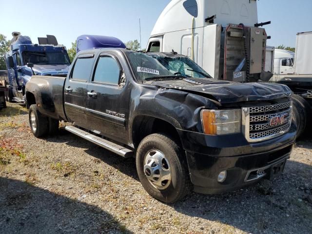
M268 39L258 24L256 0L172 0L159 16L148 52L175 51L193 59L213 78L268 80Z

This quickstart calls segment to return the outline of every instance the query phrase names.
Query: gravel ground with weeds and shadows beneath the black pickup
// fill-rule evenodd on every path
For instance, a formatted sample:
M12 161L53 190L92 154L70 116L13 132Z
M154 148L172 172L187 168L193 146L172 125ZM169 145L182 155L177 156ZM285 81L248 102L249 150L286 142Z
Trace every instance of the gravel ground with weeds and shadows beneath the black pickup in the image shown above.
M0 234L311 234L311 156L306 137L273 181L167 205L144 191L134 159L64 130L37 139L27 110L10 103L0 112Z

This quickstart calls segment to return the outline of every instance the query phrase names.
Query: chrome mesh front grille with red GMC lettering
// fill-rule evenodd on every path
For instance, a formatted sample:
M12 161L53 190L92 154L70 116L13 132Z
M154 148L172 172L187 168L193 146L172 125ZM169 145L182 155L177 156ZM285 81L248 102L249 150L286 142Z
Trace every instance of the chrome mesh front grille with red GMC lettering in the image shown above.
M242 108L242 128L249 142L280 136L292 123L292 101L268 106Z

